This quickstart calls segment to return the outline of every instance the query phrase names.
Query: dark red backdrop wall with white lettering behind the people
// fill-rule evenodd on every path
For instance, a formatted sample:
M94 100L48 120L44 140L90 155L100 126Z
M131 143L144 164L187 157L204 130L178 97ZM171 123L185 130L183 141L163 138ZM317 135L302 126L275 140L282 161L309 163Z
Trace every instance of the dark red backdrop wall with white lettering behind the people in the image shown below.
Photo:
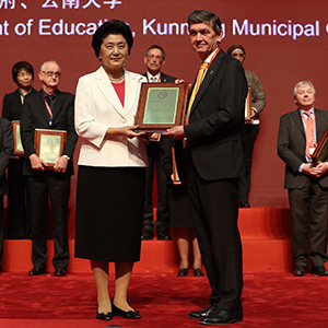
M317 108L326 108L328 2L313 0L231 1L203 0L11 0L0 1L0 98L15 90L11 67L30 61L39 89L39 66L56 60L62 69L60 89L74 93L79 77L94 71L99 62L91 38L99 21L119 19L134 32L134 45L127 69L143 73L147 48L159 44L166 51L163 71L194 81L199 58L194 54L186 19L195 9L216 13L224 24L222 48L242 44L245 69L260 78L267 106L254 152L251 206L286 206L284 165L277 155L277 133L282 114L296 109L292 90L311 80L317 90ZM79 154L77 149L74 161ZM71 204L74 204L72 180Z

